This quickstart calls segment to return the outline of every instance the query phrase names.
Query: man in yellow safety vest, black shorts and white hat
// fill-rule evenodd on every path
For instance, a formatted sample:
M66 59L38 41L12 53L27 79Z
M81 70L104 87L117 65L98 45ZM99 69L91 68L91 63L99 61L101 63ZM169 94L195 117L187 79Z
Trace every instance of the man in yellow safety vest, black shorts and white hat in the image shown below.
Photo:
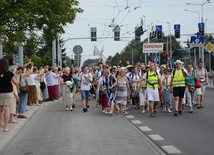
M183 62L176 60L176 69L173 71L172 80L170 84L170 91L173 92L175 112L174 115L178 116L178 113L182 115L182 101L185 93L185 77L187 73L182 69Z

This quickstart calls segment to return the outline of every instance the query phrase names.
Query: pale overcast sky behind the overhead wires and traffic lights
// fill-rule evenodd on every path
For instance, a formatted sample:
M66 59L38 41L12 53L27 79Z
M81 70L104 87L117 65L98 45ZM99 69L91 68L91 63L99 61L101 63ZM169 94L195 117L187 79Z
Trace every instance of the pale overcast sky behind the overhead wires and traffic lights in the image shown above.
M74 56L73 48L80 45L83 48L82 60L98 58L93 56L94 46L104 48L104 56L114 56L120 53L135 38L134 30L143 22L144 30L149 32L155 25L162 25L164 34L174 35L174 24L181 25L183 47L190 36L198 32L202 12L205 23L205 33L214 34L214 0L203 5L206 0L78 0L79 7L84 10L77 14L73 24L65 27L62 39L67 40L64 47L67 56ZM187 3L191 3L188 5ZM202 11L203 8L203 11ZM185 11L187 9L188 11ZM120 41L114 41L113 27L120 26ZM90 28L97 28L96 42L92 42ZM141 36L147 38L148 33ZM82 38L82 39L81 39ZM88 39L86 39L88 38Z

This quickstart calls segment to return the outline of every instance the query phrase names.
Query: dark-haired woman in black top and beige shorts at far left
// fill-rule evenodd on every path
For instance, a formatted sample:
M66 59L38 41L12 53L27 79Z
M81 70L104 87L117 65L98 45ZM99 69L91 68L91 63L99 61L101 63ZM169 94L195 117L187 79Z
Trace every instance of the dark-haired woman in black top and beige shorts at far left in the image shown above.
M7 124L10 119L10 105L14 102L12 83L18 86L19 81L9 71L9 61L6 58L0 59L0 127L8 132ZM3 124L2 124L3 122Z

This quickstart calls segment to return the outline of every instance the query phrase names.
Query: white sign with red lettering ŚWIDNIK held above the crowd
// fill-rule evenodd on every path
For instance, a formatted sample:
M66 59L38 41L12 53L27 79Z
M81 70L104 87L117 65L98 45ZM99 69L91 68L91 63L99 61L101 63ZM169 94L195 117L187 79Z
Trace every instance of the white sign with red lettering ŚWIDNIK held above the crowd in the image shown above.
M163 43L144 43L143 53L159 53L163 51Z

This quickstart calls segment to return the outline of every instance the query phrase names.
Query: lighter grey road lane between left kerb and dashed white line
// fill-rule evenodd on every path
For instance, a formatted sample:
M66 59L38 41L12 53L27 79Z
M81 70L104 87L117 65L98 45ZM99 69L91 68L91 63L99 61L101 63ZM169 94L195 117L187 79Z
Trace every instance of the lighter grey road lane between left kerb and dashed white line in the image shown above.
M164 154L122 115L107 116L94 100L83 113L60 101L41 106L1 155L153 155Z

